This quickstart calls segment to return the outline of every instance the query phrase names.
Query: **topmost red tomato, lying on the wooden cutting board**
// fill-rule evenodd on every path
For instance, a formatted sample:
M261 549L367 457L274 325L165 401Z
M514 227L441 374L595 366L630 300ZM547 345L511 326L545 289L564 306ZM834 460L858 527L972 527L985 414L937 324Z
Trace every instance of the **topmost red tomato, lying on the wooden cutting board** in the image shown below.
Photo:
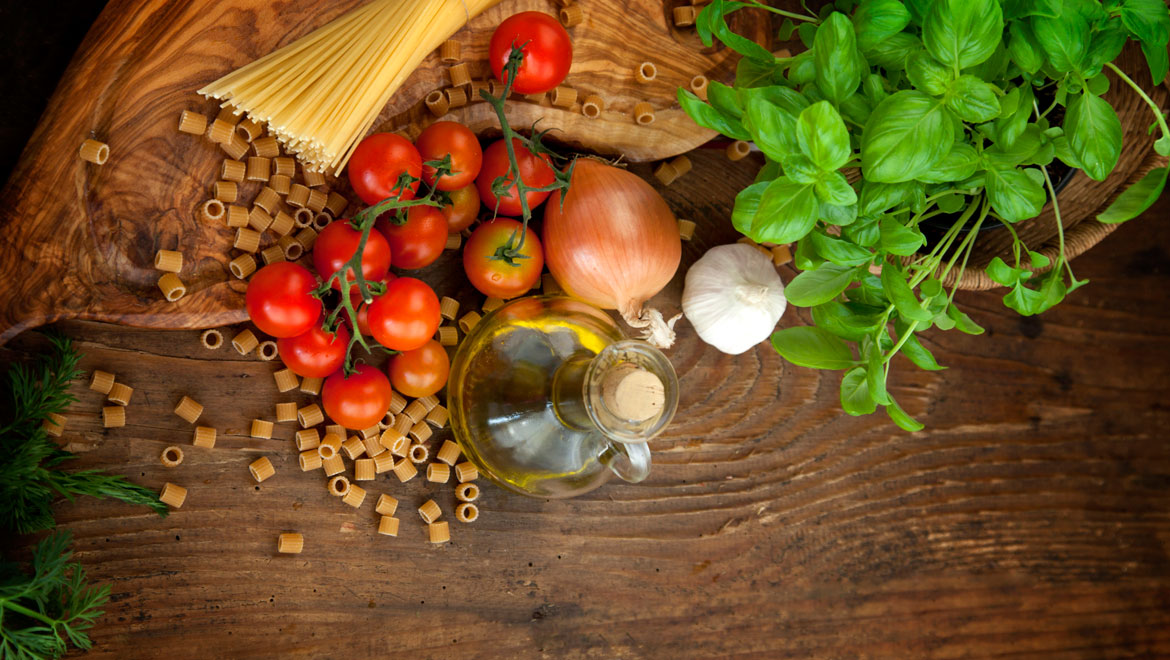
M524 46L524 62L516 71L512 91L542 94L564 82L573 61L573 44L557 19L542 12L521 12L504 19L491 33L488 61L496 80L504 82L504 64L512 43Z

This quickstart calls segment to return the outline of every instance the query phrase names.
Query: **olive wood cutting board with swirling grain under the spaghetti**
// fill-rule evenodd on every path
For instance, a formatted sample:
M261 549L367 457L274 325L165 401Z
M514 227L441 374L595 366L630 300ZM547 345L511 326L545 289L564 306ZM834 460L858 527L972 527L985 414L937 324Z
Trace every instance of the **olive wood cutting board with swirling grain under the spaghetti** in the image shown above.
M33 132L0 207L0 344L42 323L87 318L153 328L205 328L242 321L245 282L228 273L234 231L204 222L198 207L211 195L223 152L177 130L181 110L213 116L216 105L195 90L324 25L356 0L111 0L57 85ZM517 98L514 126L541 118L560 142L584 150L654 160L713 137L679 109L676 89L696 74L729 82L735 61L725 49L704 49L694 28L676 28L661 0L580 0L584 21L571 28L573 66L565 84L598 94L597 119L572 109ZM556 13L549 0L503 0L453 39L462 43L473 78L491 30L521 11ZM742 13L741 13L742 14ZM766 42L766 15L745 15L737 29ZM635 68L658 67L639 83ZM446 66L429 55L383 111L374 130L418 130L434 117L422 98L448 84ZM636 102L649 102L655 122L638 125ZM449 118L498 132L488 104L453 110ZM77 157L87 138L110 145L109 161ZM331 181L333 184L333 181ZM336 181L346 192L344 181ZM242 186L250 200L259 186ZM163 298L154 253L184 254L187 287L174 303Z

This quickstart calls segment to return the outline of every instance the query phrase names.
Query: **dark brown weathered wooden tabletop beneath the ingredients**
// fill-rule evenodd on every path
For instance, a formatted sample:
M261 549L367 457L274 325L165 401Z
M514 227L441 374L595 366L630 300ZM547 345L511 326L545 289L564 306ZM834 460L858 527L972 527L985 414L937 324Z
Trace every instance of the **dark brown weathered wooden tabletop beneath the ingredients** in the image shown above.
M663 190L698 222L684 266L736 238L729 206L758 166L694 160ZM166 520L56 508L112 587L87 658L1165 656L1168 212L1163 200L1078 260L1092 283L1039 317L1002 293L959 294L987 334L929 332L950 369L893 371L894 396L927 424L917 434L842 414L839 373L766 345L725 356L682 322L680 414L646 482L569 501L487 487L480 520L453 522L436 548L412 509L438 495L450 516L450 486L380 476L370 496L398 497L402 518L380 537L372 502L355 511L298 472L291 425L246 436L275 403L308 400L275 392L271 363L205 351L195 331L62 323L84 369L136 389L128 426L105 431L99 397L77 385L63 439L78 467L191 489ZM443 268L424 276L464 290ZM680 290L681 275L654 302L676 309ZM27 332L0 360L43 346ZM188 447L171 412L183 394L206 405L214 449ZM171 444L187 458L167 470ZM276 476L257 487L259 455ZM275 554L285 530L305 534L303 555Z

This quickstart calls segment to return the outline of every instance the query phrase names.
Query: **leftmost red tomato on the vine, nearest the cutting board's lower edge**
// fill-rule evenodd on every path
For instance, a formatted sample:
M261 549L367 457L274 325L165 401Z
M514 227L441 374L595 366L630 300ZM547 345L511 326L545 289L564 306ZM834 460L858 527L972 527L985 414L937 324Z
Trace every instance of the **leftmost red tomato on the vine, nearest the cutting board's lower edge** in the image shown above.
M321 301L312 296L317 279L289 261L271 263L248 281L245 304L256 328L273 337L295 337L321 317Z

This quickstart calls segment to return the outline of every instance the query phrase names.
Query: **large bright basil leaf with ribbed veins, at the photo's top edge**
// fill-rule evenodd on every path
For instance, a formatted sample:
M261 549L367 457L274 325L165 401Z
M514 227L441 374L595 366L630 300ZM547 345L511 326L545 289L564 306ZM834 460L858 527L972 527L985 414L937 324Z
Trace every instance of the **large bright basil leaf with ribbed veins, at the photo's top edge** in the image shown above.
M1003 33L997 0L935 0L922 25L922 43L935 60L957 70L991 57Z

